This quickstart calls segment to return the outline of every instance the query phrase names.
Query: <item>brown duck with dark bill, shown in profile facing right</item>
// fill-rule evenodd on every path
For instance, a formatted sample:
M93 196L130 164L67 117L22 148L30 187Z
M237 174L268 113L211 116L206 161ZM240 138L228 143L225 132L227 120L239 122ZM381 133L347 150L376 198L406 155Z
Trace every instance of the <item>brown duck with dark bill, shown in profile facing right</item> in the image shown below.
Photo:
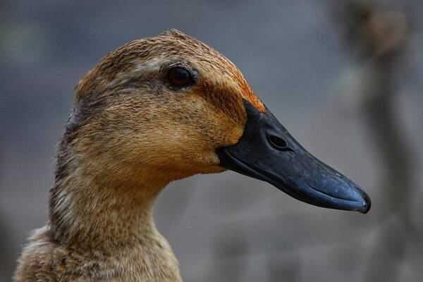
M212 47L168 30L111 51L75 87L48 223L30 236L14 281L182 281L154 201L172 181L226 170L319 207L370 209Z

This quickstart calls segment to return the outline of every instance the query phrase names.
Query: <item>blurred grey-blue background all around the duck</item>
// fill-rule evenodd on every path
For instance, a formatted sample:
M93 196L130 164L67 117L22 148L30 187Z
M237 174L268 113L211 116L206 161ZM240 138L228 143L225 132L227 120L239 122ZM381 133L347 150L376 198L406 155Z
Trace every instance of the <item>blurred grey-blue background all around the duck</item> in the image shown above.
M312 207L227 172L169 185L155 219L185 281L422 281L423 2L0 2L0 281L47 223L73 87L171 27L233 61L369 214Z

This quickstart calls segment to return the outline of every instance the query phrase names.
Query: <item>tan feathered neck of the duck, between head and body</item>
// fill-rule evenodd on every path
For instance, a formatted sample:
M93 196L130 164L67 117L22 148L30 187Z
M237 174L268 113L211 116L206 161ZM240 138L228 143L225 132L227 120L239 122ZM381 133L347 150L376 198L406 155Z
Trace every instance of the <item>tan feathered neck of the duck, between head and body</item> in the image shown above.
M119 174L83 160L66 162L64 171L60 168L50 195L50 225L57 243L110 251L160 236L152 212L167 180L147 169L132 172L137 175L132 179L130 172Z

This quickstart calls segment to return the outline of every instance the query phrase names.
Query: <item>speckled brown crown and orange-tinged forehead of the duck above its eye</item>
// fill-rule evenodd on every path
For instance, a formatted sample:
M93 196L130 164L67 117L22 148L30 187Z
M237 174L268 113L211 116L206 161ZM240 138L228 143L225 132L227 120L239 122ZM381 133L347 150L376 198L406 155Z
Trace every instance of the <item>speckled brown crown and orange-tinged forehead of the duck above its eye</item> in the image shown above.
M131 78L156 73L163 66L173 63L187 63L198 68L210 87L222 89L226 96L242 97L259 111L266 112L264 104L231 61L207 44L178 30L135 40L112 51L80 80L76 87L77 99L89 92L102 92ZM229 101L233 99L227 98Z

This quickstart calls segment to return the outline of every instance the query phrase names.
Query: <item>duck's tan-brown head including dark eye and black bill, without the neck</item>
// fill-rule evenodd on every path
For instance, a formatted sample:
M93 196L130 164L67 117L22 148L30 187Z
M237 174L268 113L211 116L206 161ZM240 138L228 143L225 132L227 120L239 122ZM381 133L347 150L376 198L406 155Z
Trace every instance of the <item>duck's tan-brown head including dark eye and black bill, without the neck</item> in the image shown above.
M89 154L105 179L152 174L168 183L230 169L319 207L370 209L355 183L288 133L231 61L177 30L111 52L76 93L68 136L80 136L76 155Z

